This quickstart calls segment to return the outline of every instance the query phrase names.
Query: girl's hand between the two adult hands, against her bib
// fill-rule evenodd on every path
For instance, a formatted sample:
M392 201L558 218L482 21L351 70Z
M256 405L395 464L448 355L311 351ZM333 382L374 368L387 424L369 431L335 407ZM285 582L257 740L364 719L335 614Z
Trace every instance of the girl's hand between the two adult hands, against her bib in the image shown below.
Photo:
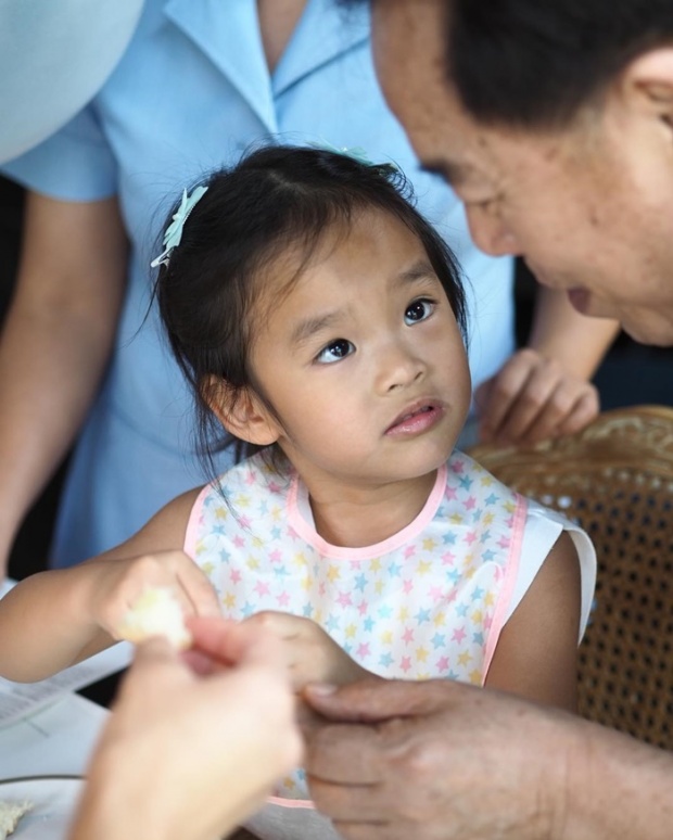
M280 639L295 691L301 691L309 683L346 685L371 677L310 619L266 611L252 615L244 624L264 627Z

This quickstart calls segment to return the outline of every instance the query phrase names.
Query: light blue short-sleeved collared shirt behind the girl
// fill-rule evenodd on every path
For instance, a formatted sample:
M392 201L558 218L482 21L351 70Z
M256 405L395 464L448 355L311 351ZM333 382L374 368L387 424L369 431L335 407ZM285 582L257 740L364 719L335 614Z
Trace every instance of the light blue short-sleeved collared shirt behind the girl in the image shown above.
M255 0L145 0L126 53L92 102L4 167L10 177L63 201L117 194L132 246L110 370L67 480L53 550L58 564L118 544L204 480L193 455L191 399L154 309L145 320L149 264L182 189L271 136L361 147L372 161L395 162L470 281L474 384L513 349L511 260L477 251L461 204L436 176L420 171L376 79L366 8L345 11L333 0L308 0L269 75Z

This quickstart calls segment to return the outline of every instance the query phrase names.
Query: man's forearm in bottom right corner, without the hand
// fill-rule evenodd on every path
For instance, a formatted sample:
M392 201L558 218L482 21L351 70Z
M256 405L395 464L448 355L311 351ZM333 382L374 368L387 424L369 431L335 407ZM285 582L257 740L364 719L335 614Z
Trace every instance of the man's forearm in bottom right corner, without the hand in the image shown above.
M673 755L594 725L577 735L559 840L668 840Z

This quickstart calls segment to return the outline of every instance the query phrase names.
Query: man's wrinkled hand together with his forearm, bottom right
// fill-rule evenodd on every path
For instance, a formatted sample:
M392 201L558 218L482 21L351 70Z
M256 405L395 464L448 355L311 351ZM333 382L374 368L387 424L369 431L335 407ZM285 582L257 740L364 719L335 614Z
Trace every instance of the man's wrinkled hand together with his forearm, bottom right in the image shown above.
M310 793L347 840L670 837L673 756L633 738L447 680L304 697Z

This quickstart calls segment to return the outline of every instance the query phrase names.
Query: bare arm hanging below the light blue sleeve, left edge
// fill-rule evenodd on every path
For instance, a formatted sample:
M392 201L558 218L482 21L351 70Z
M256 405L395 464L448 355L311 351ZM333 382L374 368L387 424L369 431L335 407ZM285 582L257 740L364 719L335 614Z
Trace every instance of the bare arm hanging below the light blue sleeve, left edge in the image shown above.
M114 199L68 204L28 195L21 269L0 340L0 572L99 386L126 253Z

